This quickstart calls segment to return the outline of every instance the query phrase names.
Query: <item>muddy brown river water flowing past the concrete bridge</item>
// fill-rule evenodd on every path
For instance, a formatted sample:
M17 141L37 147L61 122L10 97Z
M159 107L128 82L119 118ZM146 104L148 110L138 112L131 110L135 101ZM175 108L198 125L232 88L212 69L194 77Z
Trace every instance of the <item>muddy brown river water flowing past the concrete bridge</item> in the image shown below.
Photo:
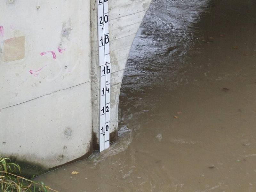
M108 150L37 179L61 192L256 191L256 1L153 1L119 128Z

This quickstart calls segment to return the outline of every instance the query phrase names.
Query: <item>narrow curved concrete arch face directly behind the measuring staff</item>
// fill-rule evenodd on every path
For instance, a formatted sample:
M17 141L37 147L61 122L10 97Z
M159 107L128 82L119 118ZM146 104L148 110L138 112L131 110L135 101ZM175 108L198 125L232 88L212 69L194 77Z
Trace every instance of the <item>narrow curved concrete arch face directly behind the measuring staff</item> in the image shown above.
M110 142L116 141L118 129L118 102L124 68L135 35L152 0L108 1L111 97L110 97ZM91 1L91 20L97 20L97 4ZM93 150L99 150L100 68L98 67L97 23L91 26L92 45L92 142Z

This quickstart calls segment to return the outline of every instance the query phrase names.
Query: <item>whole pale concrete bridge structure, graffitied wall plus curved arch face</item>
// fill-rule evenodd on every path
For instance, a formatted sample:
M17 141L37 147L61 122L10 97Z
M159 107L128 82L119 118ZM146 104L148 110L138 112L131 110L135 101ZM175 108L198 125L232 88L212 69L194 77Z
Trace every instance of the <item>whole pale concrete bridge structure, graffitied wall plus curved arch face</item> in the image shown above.
M111 141L125 63L150 1L109 0ZM99 149L95 0L0 1L0 68L0 155L48 169Z

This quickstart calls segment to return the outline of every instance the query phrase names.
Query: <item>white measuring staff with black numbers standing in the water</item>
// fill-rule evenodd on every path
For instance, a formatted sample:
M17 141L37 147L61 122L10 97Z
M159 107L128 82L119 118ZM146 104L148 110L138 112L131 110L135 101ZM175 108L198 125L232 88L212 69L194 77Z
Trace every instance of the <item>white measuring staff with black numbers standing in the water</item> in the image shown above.
M98 3L98 45L100 66L100 151L109 148L110 130L110 57L108 35L108 0Z

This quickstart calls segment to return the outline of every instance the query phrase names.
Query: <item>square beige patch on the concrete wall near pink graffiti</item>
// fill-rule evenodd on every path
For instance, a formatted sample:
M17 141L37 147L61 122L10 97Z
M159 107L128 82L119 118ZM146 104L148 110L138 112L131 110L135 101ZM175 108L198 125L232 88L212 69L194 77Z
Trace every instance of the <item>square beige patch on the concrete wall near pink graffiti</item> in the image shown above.
M25 57L25 37L13 37L4 41L4 62L20 60Z

